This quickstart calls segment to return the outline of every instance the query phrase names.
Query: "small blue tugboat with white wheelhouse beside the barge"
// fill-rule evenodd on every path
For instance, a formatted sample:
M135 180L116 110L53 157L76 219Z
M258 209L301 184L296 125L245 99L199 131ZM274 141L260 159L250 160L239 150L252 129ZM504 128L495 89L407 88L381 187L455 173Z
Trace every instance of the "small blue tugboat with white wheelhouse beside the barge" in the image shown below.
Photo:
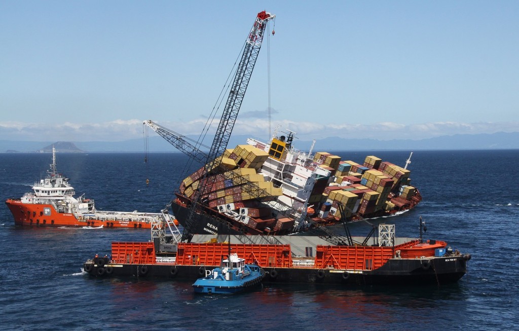
M261 284L265 271L256 265L245 264L237 254L229 254L220 267L193 284L195 293L233 294Z

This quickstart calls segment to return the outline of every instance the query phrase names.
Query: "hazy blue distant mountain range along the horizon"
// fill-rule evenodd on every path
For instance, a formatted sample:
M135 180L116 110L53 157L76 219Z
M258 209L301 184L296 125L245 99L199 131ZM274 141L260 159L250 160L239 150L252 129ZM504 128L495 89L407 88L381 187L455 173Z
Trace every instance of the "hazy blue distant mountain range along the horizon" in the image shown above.
M229 148L245 144L249 136L233 135ZM195 136L190 137L196 139ZM256 139L258 139L256 137ZM265 139L258 139L264 141ZM311 141L296 140L294 146L308 150ZM211 142L206 142L211 145ZM0 153L49 153L52 145L60 153L144 152L144 140L121 142L29 142L0 140ZM160 136L149 137L148 151L178 151ZM329 137L316 142L313 150L431 150L431 149L519 149L519 132L493 134L455 134L429 139L375 140Z

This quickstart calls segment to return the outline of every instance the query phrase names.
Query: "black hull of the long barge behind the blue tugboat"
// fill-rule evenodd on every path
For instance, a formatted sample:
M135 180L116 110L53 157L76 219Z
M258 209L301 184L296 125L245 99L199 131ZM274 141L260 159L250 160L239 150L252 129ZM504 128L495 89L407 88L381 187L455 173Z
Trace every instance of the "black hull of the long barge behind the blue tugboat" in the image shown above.
M94 277L133 277L138 279L171 279L194 282L216 266L119 264L99 267L84 264ZM427 268L426 268L427 267ZM111 269L110 269L111 268ZM424 266L419 259L390 259L376 270L351 271L314 268L268 268L265 283L318 283L345 285L440 285L455 283L467 272L465 256L433 258ZM102 270L100 270L102 269Z

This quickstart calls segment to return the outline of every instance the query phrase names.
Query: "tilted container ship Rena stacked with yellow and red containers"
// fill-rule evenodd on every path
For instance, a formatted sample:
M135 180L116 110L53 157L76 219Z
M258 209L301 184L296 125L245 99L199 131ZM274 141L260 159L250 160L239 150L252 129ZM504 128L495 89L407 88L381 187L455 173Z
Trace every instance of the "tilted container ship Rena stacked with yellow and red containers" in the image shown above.
M204 168L183 180L172 211L183 226L203 187L198 234L288 235L323 225L391 215L420 201L409 170L367 156L363 163L295 149L294 132L270 143L249 139L226 149L209 178Z

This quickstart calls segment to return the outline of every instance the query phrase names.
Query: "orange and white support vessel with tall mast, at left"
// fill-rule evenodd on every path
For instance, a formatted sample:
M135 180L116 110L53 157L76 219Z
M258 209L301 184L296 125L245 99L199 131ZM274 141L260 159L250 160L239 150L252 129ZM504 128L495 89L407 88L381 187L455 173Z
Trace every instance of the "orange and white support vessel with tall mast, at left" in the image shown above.
M15 225L37 227L103 227L149 229L158 213L95 210L94 200L75 198L74 187L56 170L56 149L45 179L19 199L7 199Z

